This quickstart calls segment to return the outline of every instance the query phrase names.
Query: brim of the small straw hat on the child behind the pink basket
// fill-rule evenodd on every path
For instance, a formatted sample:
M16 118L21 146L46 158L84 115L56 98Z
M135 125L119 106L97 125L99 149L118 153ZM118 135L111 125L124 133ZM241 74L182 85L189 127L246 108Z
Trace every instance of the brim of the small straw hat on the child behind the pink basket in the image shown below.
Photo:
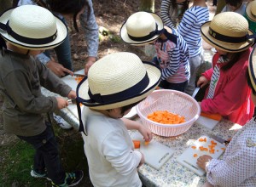
M154 13L150 13L150 14L154 17L154 20L155 20L155 22L158 26L158 30L161 31L164 28L164 24L163 24L163 21L161 20L160 16L158 14L154 14ZM120 33L119 33L120 37L122 38L122 40L124 42L127 42L131 45L144 45L144 44L147 44L147 43L150 43L150 42L154 42L158 37L160 37L160 34L157 34L154 37L151 37L151 38L149 38L148 40L145 40L145 41L139 41L138 42L138 41L131 40L131 38L128 36L128 33L127 33L126 21L123 24L123 26L121 26Z

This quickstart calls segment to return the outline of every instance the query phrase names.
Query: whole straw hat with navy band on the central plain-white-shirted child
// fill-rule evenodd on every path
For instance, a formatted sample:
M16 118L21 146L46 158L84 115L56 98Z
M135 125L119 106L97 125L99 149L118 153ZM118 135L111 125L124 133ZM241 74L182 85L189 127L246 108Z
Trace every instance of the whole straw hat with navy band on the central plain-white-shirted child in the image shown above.
M128 52L108 54L90 67L77 87L77 101L93 109L130 105L148 96L159 84L160 68Z

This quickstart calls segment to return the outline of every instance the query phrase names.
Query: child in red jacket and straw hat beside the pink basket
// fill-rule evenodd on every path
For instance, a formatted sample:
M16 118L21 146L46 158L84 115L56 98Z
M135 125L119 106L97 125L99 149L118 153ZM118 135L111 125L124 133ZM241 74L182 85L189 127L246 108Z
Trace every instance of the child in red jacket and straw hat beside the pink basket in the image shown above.
M217 14L201 26L201 35L216 48L212 68L205 71L197 85L209 88L201 101L201 111L218 113L231 122L244 125L253 116L251 90L245 84L248 57L254 39L249 39L247 20L234 12ZM234 37L236 36L236 37Z

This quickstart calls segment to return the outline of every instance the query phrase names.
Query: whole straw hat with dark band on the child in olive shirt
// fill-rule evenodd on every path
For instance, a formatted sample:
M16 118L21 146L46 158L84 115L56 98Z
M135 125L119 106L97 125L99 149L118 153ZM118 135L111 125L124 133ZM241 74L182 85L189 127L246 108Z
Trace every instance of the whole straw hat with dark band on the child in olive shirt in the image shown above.
M54 48L67 37L67 26L48 9L36 5L5 11L0 28L3 39L27 49Z

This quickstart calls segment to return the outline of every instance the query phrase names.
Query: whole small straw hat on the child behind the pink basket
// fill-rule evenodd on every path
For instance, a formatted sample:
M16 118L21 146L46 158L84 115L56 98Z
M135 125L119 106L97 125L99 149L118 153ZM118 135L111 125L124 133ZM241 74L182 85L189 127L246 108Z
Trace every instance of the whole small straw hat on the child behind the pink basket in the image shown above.
M137 12L125 21L120 29L120 36L124 42L142 45L160 37L163 28L164 24L159 15Z

